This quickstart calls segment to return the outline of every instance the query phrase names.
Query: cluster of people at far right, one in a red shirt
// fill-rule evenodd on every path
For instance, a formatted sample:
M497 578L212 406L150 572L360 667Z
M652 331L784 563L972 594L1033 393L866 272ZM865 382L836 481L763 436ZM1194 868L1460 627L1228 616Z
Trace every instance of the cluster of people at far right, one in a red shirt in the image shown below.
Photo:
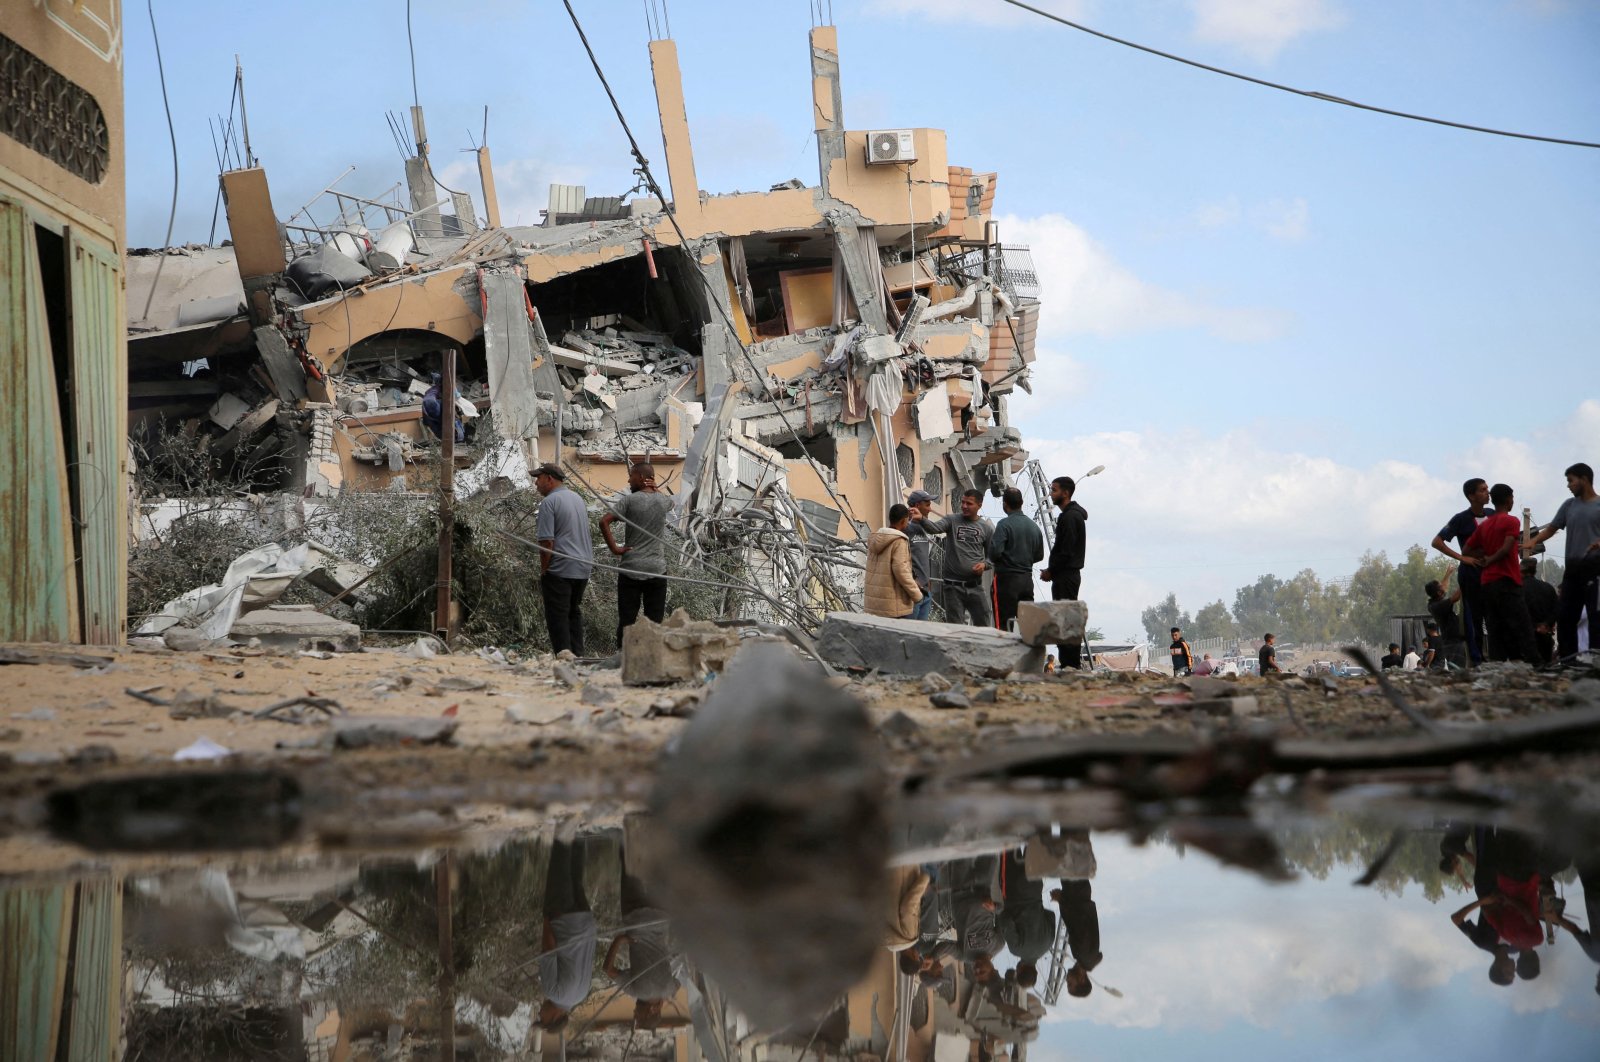
M1565 475L1571 497L1526 536L1523 521L1512 513L1517 496L1510 486L1490 486L1482 478L1462 483L1467 507L1434 536L1434 549L1458 561L1459 571L1453 592L1450 571L1424 587L1430 616L1426 659L1440 661L1435 665L1446 659L1464 664L1467 657L1474 664L1544 665L1578 653L1581 621L1594 632L1600 611L1600 496L1590 465L1573 464ZM1552 592L1534 574L1531 553L1557 533L1566 534L1566 549L1562 585Z

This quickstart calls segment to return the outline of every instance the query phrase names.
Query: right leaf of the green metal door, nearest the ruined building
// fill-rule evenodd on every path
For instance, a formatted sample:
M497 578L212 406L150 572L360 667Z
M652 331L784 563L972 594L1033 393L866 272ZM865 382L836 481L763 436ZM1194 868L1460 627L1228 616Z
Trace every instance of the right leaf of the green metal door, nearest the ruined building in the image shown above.
M83 640L117 645L126 633L128 345L117 256L72 234L72 374L77 416L78 513L83 521Z

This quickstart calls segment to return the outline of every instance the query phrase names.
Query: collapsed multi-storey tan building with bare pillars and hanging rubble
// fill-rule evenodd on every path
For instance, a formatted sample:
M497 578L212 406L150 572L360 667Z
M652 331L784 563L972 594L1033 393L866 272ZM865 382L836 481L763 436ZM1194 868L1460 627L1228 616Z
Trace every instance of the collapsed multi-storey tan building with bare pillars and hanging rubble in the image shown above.
M997 174L952 165L941 130L848 130L835 27L810 51L816 186L701 190L670 38L650 43L666 203L554 186L544 224L504 227L483 147L480 224L437 192L413 109L406 205L330 187L283 218L245 146L229 245L130 258L131 427L269 453L294 496L414 491L438 459L422 395L458 350L458 408L491 414L514 480L557 461L603 497L650 459L691 541L838 608L888 505L954 510L1022 469L1006 398L1038 289L1000 243Z

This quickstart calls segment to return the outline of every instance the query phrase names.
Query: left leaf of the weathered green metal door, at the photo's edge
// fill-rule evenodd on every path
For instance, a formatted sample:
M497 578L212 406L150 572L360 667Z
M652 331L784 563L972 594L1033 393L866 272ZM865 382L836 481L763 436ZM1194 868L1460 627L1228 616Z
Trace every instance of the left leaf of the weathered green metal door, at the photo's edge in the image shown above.
M77 641L67 462L34 221L0 198L0 641Z

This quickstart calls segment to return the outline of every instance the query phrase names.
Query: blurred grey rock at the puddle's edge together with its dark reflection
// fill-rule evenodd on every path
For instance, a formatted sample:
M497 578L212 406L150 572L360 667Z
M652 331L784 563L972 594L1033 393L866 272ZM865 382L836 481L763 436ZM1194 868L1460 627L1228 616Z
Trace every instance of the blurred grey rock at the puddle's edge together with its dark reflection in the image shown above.
M826 1012L880 953L885 776L848 691L787 651L747 651L661 765L645 868L696 971L778 1028Z

